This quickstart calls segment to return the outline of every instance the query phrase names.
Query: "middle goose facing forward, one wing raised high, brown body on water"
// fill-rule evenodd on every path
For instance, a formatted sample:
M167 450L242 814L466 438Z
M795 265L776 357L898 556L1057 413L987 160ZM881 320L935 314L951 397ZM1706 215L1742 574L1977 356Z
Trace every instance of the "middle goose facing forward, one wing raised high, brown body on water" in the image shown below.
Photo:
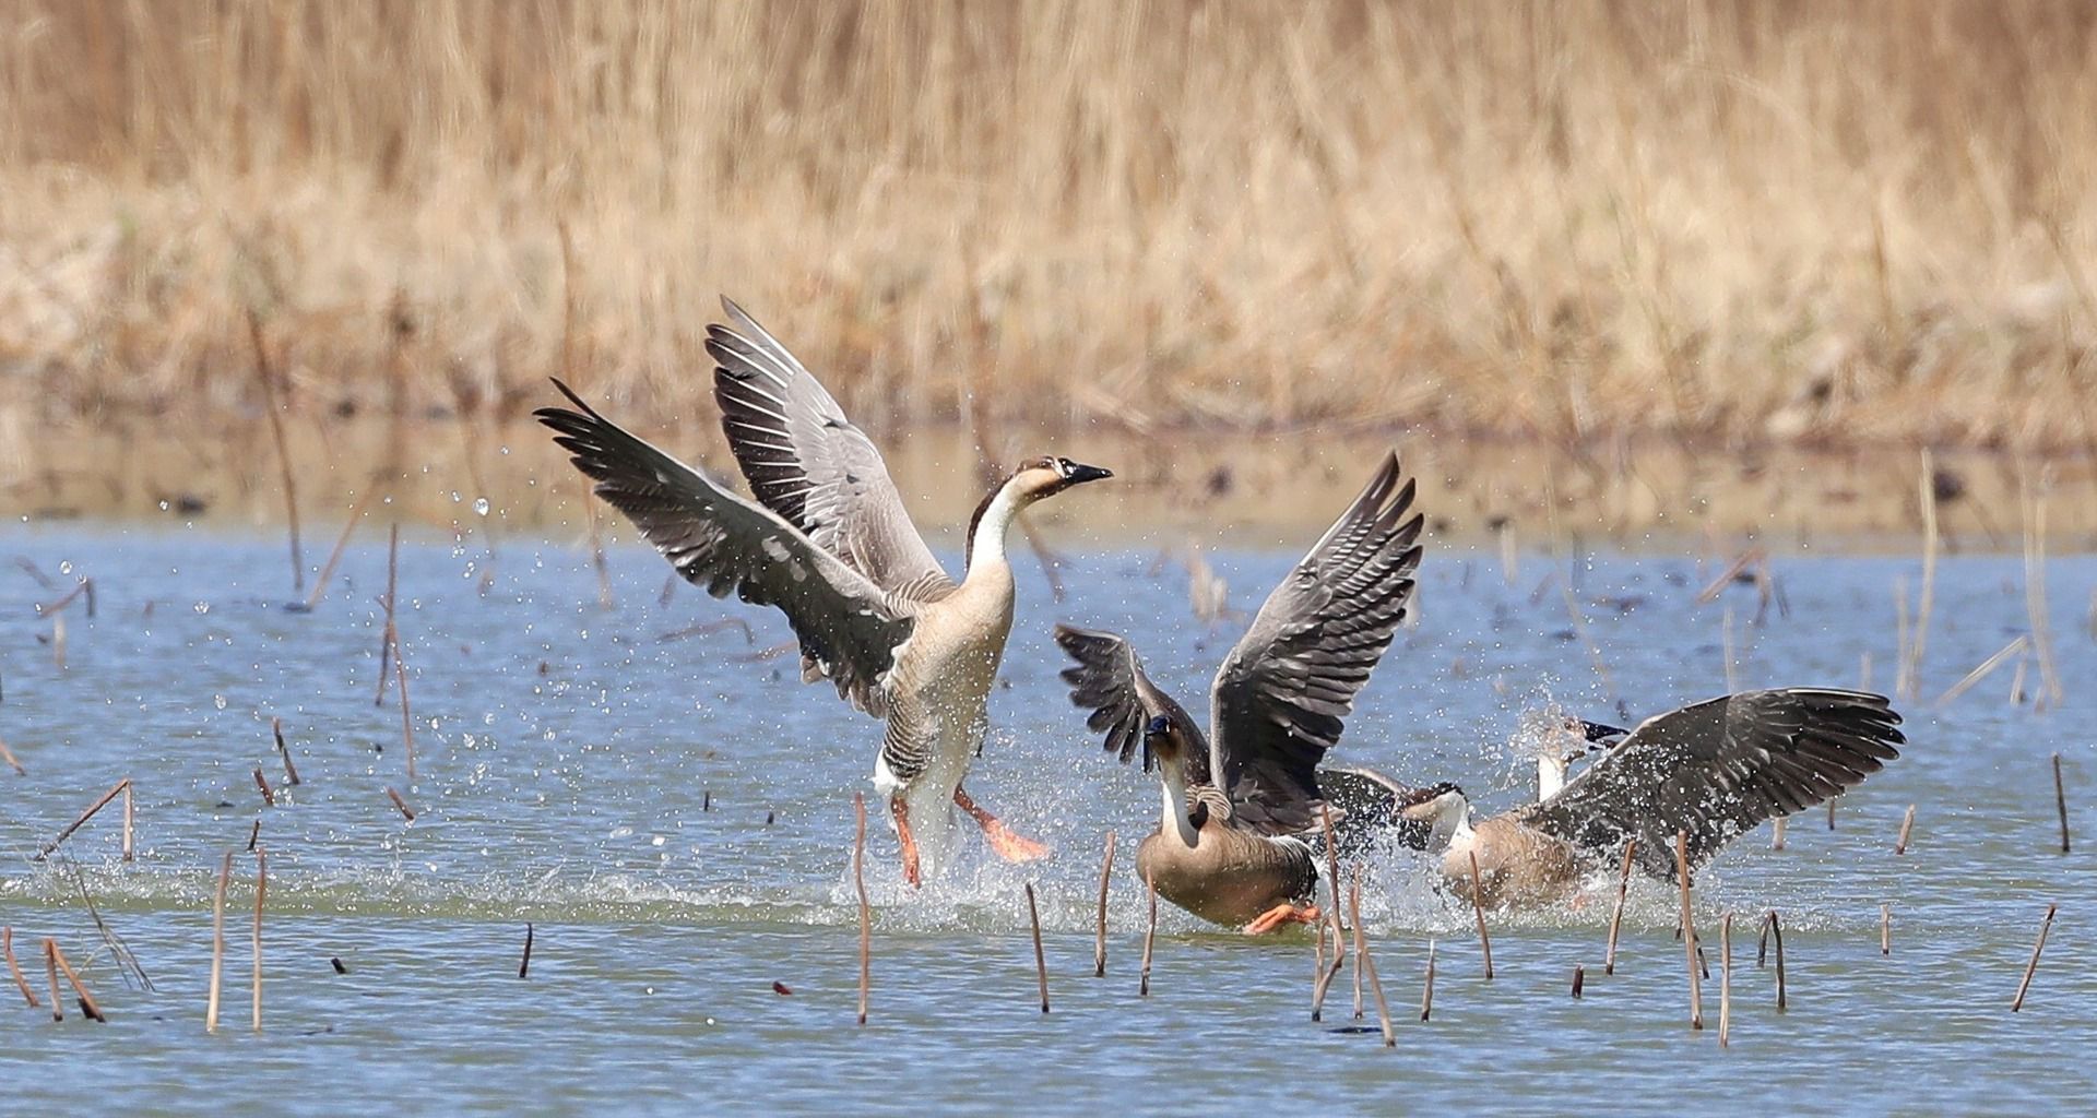
M1319 919L1306 833L1323 803L1319 759L1413 598L1420 514L1399 459L1382 468L1260 606L1210 688L1210 736L1151 684L1118 633L1057 625L1086 726L1128 764L1158 764L1164 808L1137 847L1158 896L1248 936ZM1371 774L1374 776L1374 774Z

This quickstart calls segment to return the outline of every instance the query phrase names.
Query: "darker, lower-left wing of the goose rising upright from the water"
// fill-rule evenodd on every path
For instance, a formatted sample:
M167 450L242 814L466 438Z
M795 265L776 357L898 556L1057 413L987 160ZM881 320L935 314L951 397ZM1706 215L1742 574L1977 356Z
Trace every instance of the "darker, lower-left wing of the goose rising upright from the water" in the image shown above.
M713 485L698 470L598 415L566 384L577 411L533 413L604 497L694 585L715 598L778 606L801 654L856 707L885 715L883 682L912 619L858 571L780 516Z

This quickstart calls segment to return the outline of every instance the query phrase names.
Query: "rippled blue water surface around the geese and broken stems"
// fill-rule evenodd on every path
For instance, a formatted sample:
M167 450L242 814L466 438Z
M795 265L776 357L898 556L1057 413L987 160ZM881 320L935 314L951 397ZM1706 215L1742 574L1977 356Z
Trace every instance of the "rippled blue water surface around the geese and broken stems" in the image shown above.
M1111 764L1057 680L1053 621L1134 636L1185 703L1241 623L1210 636L1189 617L1185 575L1149 554L1088 554L1072 598L1023 573L994 736L971 791L1057 856L1019 868L967 843L958 873L912 896L893 837L874 820L872 1019L853 1028L851 791L879 724L828 688L803 686L770 612L679 587L658 604L652 554L612 554L617 608L598 608L587 556L512 539L411 539L401 554L417 780L401 713L373 707L384 547L352 547L317 612L289 598L281 541L180 531L15 529L0 558L61 562L96 581L96 617L67 610L67 669L40 642L57 598L13 562L0 571L0 734L27 776L0 776L0 919L42 990L40 938L90 961L107 1026L0 1013L10 1099L218 1114L579 1112L627 1108L921 1112L1208 1108L1686 1112L1753 1097L1759 1110L2032 1112L2097 1091L2097 977L2089 906L2097 870L2089 690L2097 644L2084 621L2097 562L2047 568L2066 703L2007 703L2005 665L1944 709L1944 688L2026 629L2022 562L1948 558L1910 715L1908 755L1850 795L1837 831L1812 812L1789 850L1768 829L1699 883L1713 977L1686 1028L1676 898L1638 883L1619 973L1600 971L1606 902L1495 917L1485 982L1470 912L1422 866L1369 868L1365 923L1397 1015L1399 1047L1353 1024L1334 984L1309 1022L1309 936L1248 942L1166 908L1153 992L1137 996L1141 887L1132 841L1155 824L1151 778ZM1231 602L1254 608L1294 556L1218 554ZM952 562L952 558L950 558ZM1403 778L1453 778L1483 808L1516 803L1533 768L1516 738L1552 705L1613 719L1724 690L1728 606L1741 686L1854 686L1862 657L1894 671L1889 585L1912 558L1782 558L1789 617L1753 625L1751 587L1692 602L1709 571L1680 556L1598 556L1577 579L1573 629L1552 568L1525 556L1518 585L1497 558L1432 550L1422 617L1348 722L1340 759ZM1560 566L1562 571L1562 566ZM1560 575L1564 577L1564 575ZM1604 598L1615 602L1602 602ZM1619 606L1625 606L1619 610ZM663 642L723 617L740 629ZM2036 667L2026 688L2036 690ZM304 778L285 787L268 719L283 717ZM2061 751L2082 845L2057 852L2051 770ZM279 801L262 808L260 768ZM55 864L29 860L117 778L136 782L138 856L117 860L120 812L73 835ZM396 789L419 812L392 808ZM711 799L711 810L702 801ZM1912 850L1894 856L1917 803ZM218 858L260 818L271 883L264 1034L247 1030L254 860L235 858L226 1007L203 1032ZM1093 973L1101 837L1124 837L1111 894L1109 973ZM126 988L69 868L155 982ZM1021 883L1036 881L1055 1011L1036 1007ZM1894 954L1879 954L1879 904ZM2007 1003L2047 902L2061 902L2024 1013ZM1791 1011L1753 967L1755 919L1787 921ZM1734 1038L1715 1042L1717 933L1734 927ZM531 977L516 977L524 923ZM1434 1019L1418 1022L1428 940L1439 942ZM348 973L336 973L340 959ZM34 965L31 965L34 963ZM1587 967L1585 1001L1566 994ZM774 992L774 982L791 994ZM13 994L6 994L13 996ZM1374 1007L1369 1009L1374 1024ZM1191 1080L1191 1082L1189 1082ZM1197 1095L1199 1101L1187 1095Z

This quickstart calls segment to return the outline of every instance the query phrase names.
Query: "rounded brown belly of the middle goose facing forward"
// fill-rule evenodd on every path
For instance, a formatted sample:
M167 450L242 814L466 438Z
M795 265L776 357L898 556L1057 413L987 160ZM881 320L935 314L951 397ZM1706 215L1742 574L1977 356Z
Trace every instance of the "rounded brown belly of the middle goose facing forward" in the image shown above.
M1189 847L1176 835L1153 833L1137 847L1137 881L1158 883L1158 896L1220 925L1244 925L1277 904L1311 894L1317 873L1309 850L1204 826Z

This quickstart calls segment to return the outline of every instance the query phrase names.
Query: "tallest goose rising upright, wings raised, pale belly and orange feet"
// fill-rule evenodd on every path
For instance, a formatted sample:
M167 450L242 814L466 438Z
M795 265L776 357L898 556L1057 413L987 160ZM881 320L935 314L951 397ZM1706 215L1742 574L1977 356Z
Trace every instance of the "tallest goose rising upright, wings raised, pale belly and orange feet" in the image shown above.
M572 409L533 415L554 430L596 495L623 512L688 581L776 606L801 646L803 682L887 719L874 791L889 801L904 879L921 885L952 854L952 808L990 847L1030 860L1046 847L1013 833L963 791L1013 627L1013 518L1065 489L1111 478L1067 457L1030 457L983 495L954 581L910 522L874 443L820 382L732 300L707 329L715 401L755 501L612 424L566 384Z

